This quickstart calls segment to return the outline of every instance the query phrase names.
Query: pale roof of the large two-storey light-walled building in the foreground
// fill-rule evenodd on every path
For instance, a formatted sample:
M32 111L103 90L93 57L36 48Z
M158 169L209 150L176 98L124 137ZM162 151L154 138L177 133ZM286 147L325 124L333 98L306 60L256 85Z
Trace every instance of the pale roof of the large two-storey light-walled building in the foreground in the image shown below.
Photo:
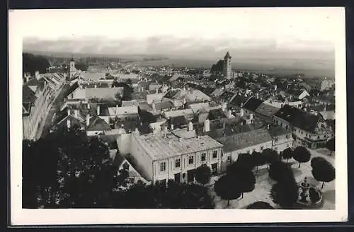
M138 144L154 161L222 147L222 144L208 136L190 139L178 139L173 134L168 134L166 138L164 134L145 134L141 136L132 134L132 136L137 139Z

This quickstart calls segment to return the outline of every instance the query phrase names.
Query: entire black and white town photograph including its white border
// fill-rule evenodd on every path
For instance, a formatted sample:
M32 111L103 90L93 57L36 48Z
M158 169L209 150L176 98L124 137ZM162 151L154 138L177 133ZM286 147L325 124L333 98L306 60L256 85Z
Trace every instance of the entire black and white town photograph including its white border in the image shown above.
M346 220L343 8L21 10L9 36L13 223Z

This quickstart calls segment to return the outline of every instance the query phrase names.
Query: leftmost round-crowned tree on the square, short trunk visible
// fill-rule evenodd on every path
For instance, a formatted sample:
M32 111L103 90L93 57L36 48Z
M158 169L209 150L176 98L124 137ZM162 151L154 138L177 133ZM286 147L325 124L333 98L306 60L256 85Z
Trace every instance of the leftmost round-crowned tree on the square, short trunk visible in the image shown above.
M223 175L215 182L215 193L222 199L227 200L227 207L230 205L230 200L241 197L241 192L235 186L236 181L232 175Z

